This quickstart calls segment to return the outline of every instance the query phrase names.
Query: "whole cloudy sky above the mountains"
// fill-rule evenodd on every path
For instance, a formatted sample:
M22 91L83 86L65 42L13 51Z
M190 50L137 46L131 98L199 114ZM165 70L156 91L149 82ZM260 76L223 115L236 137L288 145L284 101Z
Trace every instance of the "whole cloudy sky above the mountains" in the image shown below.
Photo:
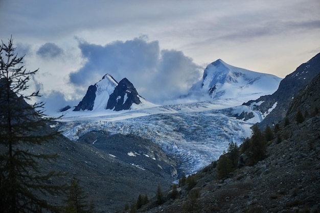
M0 38L39 68L48 105L77 104L106 73L161 104L219 58L284 78L320 52L319 11L319 0L0 0Z

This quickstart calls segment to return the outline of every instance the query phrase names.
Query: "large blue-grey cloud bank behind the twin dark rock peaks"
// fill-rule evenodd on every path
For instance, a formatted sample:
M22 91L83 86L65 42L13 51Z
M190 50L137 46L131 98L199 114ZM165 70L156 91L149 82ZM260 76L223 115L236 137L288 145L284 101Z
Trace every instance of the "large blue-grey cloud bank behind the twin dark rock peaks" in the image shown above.
M202 68L181 51L160 50L158 41L145 36L115 41L104 46L79 40L85 65L70 74L70 82L89 86L110 74L120 81L127 78L138 93L154 103L185 94L202 76Z

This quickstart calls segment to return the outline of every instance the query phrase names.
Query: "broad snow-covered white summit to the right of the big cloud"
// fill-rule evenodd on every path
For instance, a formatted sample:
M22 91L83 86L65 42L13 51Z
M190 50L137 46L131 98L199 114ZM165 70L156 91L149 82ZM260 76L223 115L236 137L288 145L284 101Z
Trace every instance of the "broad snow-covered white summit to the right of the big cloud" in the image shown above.
M218 59L204 69L202 81L193 86L189 96L202 94L212 99L242 98L245 101L271 94L280 81L277 76L235 67Z

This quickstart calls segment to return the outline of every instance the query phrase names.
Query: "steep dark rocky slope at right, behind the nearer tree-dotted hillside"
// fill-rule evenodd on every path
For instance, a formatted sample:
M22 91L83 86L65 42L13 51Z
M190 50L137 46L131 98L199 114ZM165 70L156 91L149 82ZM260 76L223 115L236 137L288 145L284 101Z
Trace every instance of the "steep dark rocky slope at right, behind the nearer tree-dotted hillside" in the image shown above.
M293 73L287 75L280 82L279 88L275 93L262 96L255 101L249 101L243 105L249 106L253 102L263 101L260 106L254 109L266 112L273 104L278 102L277 107L261 123L258 123L260 129L264 129L267 125L272 126L284 119L289 105L298 91L310 83L318 73L320 73L320 53L308 62L301 64Z

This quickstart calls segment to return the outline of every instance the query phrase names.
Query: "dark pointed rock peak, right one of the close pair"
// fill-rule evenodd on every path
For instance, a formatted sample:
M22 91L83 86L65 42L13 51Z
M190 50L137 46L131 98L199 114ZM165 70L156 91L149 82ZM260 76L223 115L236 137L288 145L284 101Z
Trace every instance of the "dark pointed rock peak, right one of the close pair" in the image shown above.
M118 86L116 86L115 91L110 94L107 109L113 109L115 111L128 110L133 103L141 103L139 94L133 84L124 78L119 82Z

